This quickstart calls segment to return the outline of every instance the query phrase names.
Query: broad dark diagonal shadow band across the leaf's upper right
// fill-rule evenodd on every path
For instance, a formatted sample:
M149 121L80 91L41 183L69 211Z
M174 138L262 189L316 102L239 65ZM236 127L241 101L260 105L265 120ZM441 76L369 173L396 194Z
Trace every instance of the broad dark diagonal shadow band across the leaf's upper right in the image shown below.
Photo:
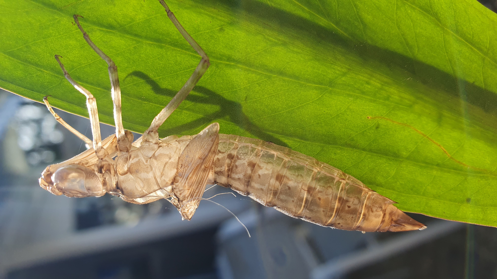
M488 115L485 115L489 114L497 117L497 94L481 88L473 82L464 80L464 78L453 76L397 52L368 44L364 42L364 38L357 35L351 35L352 37L347 38L340 32L335 32L336 30L333 30L333 28L327 28L296 14L289 13L278 8L276 4L271 5L258 0L198 0L198 2L212 6L223 4L236 13L245 12L256 17L258 20L255 22L264 28L287 34L289 37L295 37L295 34L299 34L299 36L295 37L295 40L305 38L306 40L323 43L323 45L337 46L360 58L364 62L364 67L372 67L373 69L378 67L377 70L384 71L383 73L389 75L392 79L396 78L395 75L391 74L392 72L404 72L407 76L414 78L416 82L420 82L441 93L436 95L431 91L416 88L417 93L420 95L446 105L451 113L460 115L463 118L469 117L465 110L471 110L469 113L472 115L471 117L475 117L479 122L486 123L491 127L497 127L494 118L489 118ZM455 53L456 50L451 51ZM381 67L378 65L381 65ZM264 69L264 71L273 72L273 69L268 68ZM298 79L298 76L292 76L292 78ZM404 80L397 81L404 82ZM454 98L461 99L480 108L485 114L482 115L472 108L462 108L460 103L454 101Z

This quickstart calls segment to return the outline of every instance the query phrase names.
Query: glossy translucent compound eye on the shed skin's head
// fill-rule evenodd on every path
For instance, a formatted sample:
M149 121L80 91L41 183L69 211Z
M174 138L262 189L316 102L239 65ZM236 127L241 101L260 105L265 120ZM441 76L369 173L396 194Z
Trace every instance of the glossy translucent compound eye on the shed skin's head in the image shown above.
M57 190L68 197L101 196L102 184L93 170L82 165L71 164L58 169L52 175Z

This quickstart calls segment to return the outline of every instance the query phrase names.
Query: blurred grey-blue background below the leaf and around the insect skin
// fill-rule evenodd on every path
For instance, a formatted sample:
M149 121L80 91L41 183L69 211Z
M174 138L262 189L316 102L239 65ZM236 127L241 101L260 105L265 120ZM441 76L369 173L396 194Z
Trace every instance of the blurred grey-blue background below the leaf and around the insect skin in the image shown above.
M56 112L91 139L89 120ZM101 124L102 138L114 127ZM139 135L135 134L135 139ZM43 104L0 89L1 279L497 279L497 228L411 214L423 231L321 227L236 194L181 221L167 201L55 196L43 169L82 140ZM221 186L205 198L231 192Z

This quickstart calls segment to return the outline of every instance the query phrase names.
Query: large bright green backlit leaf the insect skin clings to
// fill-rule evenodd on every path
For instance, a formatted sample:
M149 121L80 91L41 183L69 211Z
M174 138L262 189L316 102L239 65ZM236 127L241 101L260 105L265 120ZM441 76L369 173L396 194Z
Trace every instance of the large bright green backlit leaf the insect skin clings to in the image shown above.
M342 169L400 209L497 226L497 15L476 0L168 0L211 67L160 130L270 140ZM143 132L200 61L156 0L0 0L0 87ZM369 118L368 118L369 117Z

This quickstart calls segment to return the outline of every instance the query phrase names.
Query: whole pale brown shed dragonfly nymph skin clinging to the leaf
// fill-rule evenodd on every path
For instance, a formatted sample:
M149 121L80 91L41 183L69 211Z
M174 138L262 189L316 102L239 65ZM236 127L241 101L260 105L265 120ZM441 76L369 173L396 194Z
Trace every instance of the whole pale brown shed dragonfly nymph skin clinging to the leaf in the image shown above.
M133 142L121 119L121 90L114 62L93 44L78 17L74 20L88 45L108 64L114 104L115 135L101 139L96 100L71 78L61 56L55 59L65 77L86 96L93 140L64 122L44 102L57 121L89 146L64 162L48 166L40 186L68 197L119 196L135 204L167 199L183 219L191 219L207 184L218 184L260 204L322 226L359 231L408 231L426 226L397 209L392 200L352 176L313 157L270 141L219 134L213 123L194 136L159 139L158 129L186 98L209 67L209 58L184 30L164 0L167 16L201 56L185 85Z

